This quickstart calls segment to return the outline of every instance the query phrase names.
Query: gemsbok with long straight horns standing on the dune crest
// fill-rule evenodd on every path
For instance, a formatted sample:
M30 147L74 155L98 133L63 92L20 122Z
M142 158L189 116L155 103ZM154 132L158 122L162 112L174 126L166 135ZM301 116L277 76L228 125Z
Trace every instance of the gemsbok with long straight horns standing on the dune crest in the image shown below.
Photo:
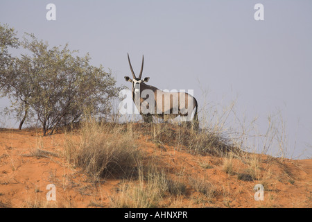
M142 115L144 122L152 122L153 116L164 121L180 116L188 126L198 129L198 103L196 99L186 92L164 92L157 87L146 85L150 79L141 79L144 67L142 59L139 78L135 76L128 54L128 62L133 79L125 76L125 80L132 83L132 99ZM191 124L192 123L192 124Z

